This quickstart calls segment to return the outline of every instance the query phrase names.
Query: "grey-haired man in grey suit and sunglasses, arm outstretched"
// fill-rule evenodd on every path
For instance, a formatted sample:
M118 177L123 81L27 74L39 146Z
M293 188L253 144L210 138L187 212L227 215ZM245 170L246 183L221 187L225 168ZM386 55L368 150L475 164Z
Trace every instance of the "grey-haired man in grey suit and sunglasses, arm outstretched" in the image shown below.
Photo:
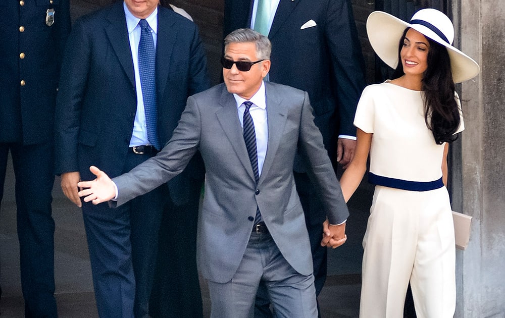
M199 150L207 171L198 220L199 270L212 317L251 317L260 281L280 317L316 317L309 236L293 161L306 156L327 213L322 245L345 242L347 207L306 92L264 82L271 44L250 29L225 38L225 84L188 98L172 139L153 158L111 179L96 167L84 201L121 205L180 173ZM330 225L333 224L333 225Z

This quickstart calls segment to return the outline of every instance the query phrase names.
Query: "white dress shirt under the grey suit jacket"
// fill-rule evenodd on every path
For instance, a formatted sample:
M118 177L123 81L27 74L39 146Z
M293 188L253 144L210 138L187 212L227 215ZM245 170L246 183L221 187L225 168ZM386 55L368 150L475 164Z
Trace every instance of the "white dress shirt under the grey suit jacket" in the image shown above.
M237 102L238 110L238 120L240 121L240 126L242 129L244 127L244 111L245 105L243 105L244 99L237 94L233 94ZM263 163L265 162L265 155L267 154L267 143L268 143L268 124L267 124L267 96L265 95L265 82L261 83L260 89L252 95L249 99L252 105L249 109L249 114L251 114L252 122L254 123L254 129L256 133L256 150L258 152L258 174L261 176L261 171L263 169Z

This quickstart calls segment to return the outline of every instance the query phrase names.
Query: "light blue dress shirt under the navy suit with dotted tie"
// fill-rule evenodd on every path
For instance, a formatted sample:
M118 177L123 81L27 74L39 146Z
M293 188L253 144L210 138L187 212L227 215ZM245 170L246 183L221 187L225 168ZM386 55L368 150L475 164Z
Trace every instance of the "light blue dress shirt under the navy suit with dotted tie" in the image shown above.
M138 42L140 41L140 25L139 18L131 14L131 12L123 3L126 15L126 28L128 30L128 38L130 39L131 57L133 60L133 70L135 72L135 90L137 93L137 111L135 113L135 122L133 124L133 134L130 139L130 147L150 145L147 138L147 126L145 124L144 99L142 96L142 86L140 85L140 73L138 71ZM158 32L158 8L155 9L146 19L153 34L153 40L156 48L157 32Z

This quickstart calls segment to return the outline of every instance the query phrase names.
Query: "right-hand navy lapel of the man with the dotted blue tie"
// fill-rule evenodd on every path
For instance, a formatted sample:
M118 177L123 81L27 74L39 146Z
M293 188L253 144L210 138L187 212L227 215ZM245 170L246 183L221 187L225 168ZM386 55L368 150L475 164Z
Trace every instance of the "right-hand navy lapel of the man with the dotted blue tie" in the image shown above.
M176 43L177 32L172 28L173 19L167 10L158 7L158 38L156 43L156 90L161 98L167 86L168 73L170 71L170 58L172 57Z

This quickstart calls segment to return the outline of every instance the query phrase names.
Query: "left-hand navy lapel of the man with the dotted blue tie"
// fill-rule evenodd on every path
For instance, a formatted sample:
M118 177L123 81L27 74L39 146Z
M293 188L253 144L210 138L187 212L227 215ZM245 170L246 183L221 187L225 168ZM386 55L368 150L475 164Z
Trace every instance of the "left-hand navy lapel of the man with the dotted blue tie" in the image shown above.
M119 63L123 67L126 76L135 87L135 74L133 71L133 60L131 57L130 40L126 28L126 18L123 10L123 2L117 2L107 16L111 23L106 27L106 33L111 42L112 48L118 57Z

